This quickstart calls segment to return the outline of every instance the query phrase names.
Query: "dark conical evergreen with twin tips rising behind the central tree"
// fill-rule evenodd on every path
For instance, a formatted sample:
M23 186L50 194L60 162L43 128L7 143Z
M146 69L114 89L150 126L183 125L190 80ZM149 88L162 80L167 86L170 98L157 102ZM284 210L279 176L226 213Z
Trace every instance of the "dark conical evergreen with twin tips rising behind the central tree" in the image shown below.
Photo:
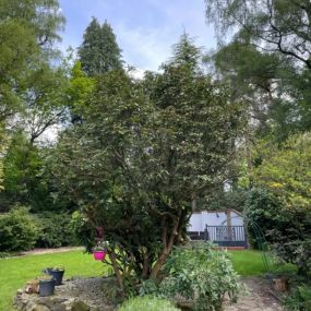
M82 69L87 75L94 76L122 68L121 49L107 22L100 26L98 21L93 17L83 38L79 56Z

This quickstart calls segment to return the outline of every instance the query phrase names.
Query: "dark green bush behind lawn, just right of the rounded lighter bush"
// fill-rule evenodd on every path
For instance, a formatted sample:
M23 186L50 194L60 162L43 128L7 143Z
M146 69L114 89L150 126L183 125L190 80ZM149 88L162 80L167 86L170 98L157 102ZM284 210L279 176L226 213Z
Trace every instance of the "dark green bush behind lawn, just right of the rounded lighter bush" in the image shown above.
M36 246L39 248L60 248L76 244L76 239L71 230L71 216L51 212L37 214L40 227Z

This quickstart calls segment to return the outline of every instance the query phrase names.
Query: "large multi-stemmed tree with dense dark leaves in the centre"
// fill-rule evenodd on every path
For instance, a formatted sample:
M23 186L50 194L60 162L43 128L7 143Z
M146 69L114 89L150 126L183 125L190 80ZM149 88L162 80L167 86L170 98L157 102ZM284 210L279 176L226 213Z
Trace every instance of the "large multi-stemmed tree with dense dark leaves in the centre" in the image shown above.
M59 184L81 206L80 232L88 247L96 236L109 240L122 290L133 272L159 277L184 239L193 200L228 177L243 107L200 59L183 37L163 73L142 82L122 71L103 75L84 122L63 133L53 156Z

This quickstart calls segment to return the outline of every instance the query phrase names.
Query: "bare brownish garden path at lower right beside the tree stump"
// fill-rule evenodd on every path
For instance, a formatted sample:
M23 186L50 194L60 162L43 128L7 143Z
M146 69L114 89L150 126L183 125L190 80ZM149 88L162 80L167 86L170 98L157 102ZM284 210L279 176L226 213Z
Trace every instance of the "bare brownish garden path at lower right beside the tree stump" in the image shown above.
M244 278L249 294L237 304L226 301L225 311L282 311L279 301L272 295L270 284L262 277Z

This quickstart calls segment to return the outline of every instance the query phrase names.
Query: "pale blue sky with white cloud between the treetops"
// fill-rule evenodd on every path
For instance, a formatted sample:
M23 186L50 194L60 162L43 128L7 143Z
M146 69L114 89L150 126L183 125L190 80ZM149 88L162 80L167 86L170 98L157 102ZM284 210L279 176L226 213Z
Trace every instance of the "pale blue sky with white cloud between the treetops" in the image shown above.
M61 48L76 48L92 16L107 20L117 35L127 63L157 70L171 55L171 46L186 31L198 46L216 47L206 25L204 0L59 0L67 17Z

